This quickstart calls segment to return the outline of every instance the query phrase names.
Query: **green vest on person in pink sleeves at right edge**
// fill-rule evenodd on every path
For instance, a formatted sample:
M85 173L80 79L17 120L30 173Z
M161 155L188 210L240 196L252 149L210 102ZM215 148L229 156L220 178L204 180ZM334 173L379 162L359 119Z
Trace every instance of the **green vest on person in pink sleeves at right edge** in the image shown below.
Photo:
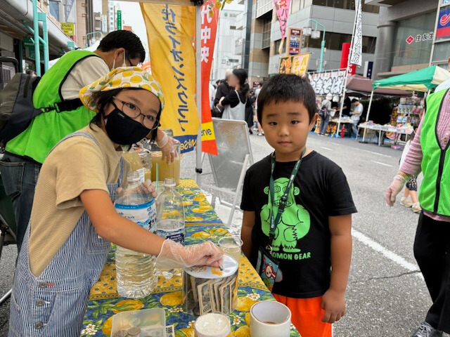
M436 128L446 93L446 90L442 90L428 96L420 131L420 147L423 152L420 206L424 211L440 216L450 216L450 142L442 149Z

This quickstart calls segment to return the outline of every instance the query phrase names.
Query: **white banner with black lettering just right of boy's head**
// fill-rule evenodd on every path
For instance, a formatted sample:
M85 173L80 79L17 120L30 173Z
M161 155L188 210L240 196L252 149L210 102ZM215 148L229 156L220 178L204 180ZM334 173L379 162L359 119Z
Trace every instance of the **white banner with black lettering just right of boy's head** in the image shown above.
M313 72L309 74L309 81L316 95L341 95L345 82L345 70L331 70L330 72Z

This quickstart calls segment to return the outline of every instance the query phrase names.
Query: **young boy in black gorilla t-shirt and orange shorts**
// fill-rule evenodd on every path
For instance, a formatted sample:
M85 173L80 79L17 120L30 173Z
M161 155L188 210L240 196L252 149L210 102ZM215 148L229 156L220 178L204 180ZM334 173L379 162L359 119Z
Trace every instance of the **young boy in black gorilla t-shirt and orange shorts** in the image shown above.
M342 169L306 147L316 110L313 88L294 74L262 87L258 120L275 152L245 176L242 239L264 282L274 279L274 296L288 305L302 337L331 337L331 324L345 315L356 208Z

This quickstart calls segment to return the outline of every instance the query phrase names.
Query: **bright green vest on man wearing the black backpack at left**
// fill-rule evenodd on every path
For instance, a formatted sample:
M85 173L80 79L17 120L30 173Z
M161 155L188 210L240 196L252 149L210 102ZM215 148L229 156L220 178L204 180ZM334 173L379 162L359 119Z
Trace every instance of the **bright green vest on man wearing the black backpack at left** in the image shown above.
M98 55L91 51L70 51L47 71L33 93L34 107L53 107L63 101L61 88L70 71L84 58ZM87 84L86 84L87 85ZM81 88L80 88L81 89ZM30 126L9 140L6 151L42 164L53 147L69 133L88 125L95 112L84 105L76 110L58 112L53 109L34 117Z

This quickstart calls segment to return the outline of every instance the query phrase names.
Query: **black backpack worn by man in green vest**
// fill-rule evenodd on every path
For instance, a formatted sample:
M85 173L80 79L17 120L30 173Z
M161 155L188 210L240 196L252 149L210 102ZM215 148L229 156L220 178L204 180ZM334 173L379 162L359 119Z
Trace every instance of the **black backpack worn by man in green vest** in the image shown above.
M79 98L63 100L50 107L36 108L33 93L41 77L18 72L0 91L0 143L6 143L26 130L32 119L42 112L75 110L82 106Z

